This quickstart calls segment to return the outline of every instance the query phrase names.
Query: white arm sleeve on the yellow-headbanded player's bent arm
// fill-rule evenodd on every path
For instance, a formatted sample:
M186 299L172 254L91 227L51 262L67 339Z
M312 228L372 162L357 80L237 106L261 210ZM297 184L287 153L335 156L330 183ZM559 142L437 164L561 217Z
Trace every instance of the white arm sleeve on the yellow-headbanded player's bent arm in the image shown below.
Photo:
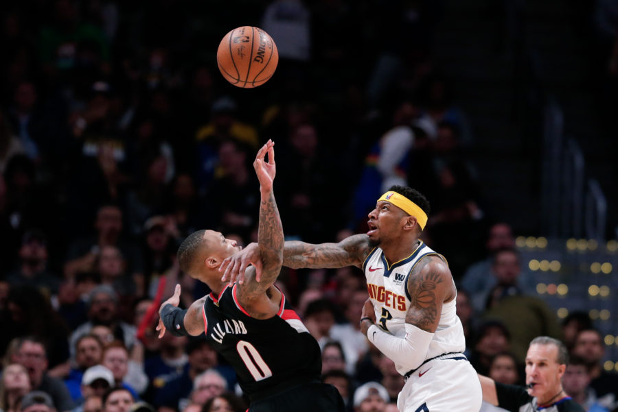
M429 350L433 333L426 332L414 325L406 324L406 336L396 337L378 328L369 326L367 338L387 358L395 362L397 372L404 375L423 363Z

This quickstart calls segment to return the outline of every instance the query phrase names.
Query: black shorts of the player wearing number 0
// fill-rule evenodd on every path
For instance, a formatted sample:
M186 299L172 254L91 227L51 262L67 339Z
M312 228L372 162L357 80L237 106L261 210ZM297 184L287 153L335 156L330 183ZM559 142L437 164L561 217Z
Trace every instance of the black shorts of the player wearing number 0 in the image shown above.
M325 383L306 383L252 402L249 412L345 412L339 391Z

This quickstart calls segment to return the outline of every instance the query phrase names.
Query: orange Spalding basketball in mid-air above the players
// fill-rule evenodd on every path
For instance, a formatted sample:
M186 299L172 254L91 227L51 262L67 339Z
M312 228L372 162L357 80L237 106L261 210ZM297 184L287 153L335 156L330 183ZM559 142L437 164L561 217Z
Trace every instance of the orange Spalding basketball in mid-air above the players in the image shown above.
M275 42L258 27L233 29L223 37L217 50L217 65L225 80L243 88L266 83L278 62Z

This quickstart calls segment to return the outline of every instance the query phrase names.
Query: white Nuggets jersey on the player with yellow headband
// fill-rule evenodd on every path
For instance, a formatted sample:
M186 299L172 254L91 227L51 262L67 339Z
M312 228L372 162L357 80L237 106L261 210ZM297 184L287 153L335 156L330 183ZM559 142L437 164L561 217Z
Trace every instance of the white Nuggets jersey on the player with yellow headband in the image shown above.
M380 247L371 250L363 263L369 298L376 311L376 324L394 336L404 337L406 335L405 319L411 305L411 297L407 288L408 277L416 263L428 255L444 258L421 241L413 254L390 266ZM455 299L453 299L442 305L442 313L429 344L426 359L450 352L464 352L465 349L464 328L455 313ZM397 361L395 365L400 374L408 372L400 368Z

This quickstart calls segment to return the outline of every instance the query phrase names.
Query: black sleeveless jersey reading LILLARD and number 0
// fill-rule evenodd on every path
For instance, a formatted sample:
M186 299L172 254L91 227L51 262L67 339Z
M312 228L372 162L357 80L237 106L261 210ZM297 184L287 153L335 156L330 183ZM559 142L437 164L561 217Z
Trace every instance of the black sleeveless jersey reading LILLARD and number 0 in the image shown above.
M236 299L236 284L204 304L206 336L236 370L238 383L250 398L319 378L321 352L317 341L282 293L277 315L255 319Z

